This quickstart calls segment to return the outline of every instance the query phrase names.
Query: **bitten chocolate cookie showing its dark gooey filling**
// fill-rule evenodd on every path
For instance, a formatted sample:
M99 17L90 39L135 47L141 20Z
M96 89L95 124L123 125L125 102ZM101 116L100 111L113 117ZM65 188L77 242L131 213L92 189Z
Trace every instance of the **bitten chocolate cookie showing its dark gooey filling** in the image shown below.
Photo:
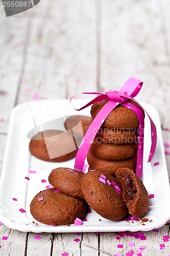
M129 213L142 218L149 209L149 196L143 182L128 168L116 170L116 177L123 187L123 199Z

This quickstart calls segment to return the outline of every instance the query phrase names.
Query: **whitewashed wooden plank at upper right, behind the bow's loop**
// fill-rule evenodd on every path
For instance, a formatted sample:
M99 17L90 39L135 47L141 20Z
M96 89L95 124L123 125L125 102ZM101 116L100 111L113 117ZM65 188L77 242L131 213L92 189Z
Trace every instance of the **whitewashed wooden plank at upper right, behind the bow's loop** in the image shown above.
M137 77L144 82L138 99L150 101L168 124L169 61L161 15L158 1L102 0L100 87L119 89Z

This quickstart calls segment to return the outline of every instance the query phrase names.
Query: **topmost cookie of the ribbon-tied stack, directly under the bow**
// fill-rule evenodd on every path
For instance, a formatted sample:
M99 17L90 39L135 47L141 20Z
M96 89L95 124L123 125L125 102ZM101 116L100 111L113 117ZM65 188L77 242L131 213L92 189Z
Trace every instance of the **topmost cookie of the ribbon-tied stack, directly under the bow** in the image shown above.
M130 103L133 102L134 105L139 106L136 102L132 100L128 100L128 101ZM90 113L93 119L107 102L108 100L102 100L94 103L91 106ZM126 108L125 106L117 105L116 108L107 116L107 118L105 119L102 125L104 127L113 128L113 129L122 129L122 128L125 130L135 129L139 125L139 120L137 115L132 110Z

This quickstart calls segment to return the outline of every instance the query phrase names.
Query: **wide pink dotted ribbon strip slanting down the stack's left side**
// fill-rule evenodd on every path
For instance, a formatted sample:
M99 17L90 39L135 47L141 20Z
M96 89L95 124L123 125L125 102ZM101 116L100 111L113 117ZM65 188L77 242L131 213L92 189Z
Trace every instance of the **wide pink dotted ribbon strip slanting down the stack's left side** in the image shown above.
M92 123L90 124L80 146L79 150L76 155L75 159L75 169L81 170L83 172L83 166L85 159L87 157L89 148L93 139L98 133L102 123L105 121L106 117L110 114L110 112L116 107L116 102L109 100L101 109L101 111L96 115L93 119Z

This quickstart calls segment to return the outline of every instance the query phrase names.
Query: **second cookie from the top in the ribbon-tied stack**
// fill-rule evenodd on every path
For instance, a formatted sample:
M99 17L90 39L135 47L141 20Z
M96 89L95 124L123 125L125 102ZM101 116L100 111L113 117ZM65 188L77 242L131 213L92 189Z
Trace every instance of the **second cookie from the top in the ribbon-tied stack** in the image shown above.
M102 142L110 144L126 144L138 141L138 129L124 130L101 127L96 137L100 137Z

